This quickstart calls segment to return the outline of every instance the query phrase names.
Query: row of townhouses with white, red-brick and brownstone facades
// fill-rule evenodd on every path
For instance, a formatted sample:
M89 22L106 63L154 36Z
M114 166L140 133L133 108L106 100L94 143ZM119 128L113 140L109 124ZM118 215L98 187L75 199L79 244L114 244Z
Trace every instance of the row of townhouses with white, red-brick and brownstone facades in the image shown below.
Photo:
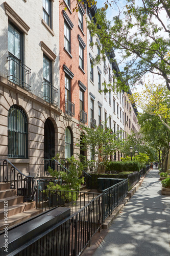
M76 2L64 4L67 10L56 0L0 0L0 156L34 177L44 176L44 160L57 153L77 157L80 123L95 127L108 120L124 138L131 132L126 113L138 129L123 91L100 92L103 82L116 82L118 67L110 61L113 51L92 65L100 40L91 37L85 15L90 19L96 6L79 5L77 13Z

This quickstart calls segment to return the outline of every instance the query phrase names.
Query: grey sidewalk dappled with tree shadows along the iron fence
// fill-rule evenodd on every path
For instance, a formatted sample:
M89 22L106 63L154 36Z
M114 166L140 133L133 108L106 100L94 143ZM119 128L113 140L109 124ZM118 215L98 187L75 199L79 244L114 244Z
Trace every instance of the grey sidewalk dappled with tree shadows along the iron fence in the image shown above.
M150 170L109 230L102 231L93 256L170 255L170 196L161 195L158 169Z

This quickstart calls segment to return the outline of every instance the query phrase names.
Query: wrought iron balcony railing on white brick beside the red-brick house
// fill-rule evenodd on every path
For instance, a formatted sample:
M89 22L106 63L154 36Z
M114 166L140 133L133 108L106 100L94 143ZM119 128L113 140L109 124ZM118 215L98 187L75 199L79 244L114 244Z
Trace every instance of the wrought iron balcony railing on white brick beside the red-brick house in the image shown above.
M58 106L58 89L48 81L43 81L43 99L53 105Z

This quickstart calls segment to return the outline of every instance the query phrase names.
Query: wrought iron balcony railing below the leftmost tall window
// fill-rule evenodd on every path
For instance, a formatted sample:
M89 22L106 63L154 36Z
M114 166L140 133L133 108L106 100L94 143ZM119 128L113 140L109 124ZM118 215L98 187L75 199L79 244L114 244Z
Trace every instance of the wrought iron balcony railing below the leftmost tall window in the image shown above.
M28 91L31 90L31 69L24 65L15 56L8 56L9 72L8 80L18 84Z

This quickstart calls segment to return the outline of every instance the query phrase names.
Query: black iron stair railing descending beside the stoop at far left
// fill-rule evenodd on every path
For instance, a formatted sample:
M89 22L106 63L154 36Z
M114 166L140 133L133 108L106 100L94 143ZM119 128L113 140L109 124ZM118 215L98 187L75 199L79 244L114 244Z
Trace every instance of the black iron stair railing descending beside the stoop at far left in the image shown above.
M8 159L0 160L0 182L10 182L10 188L16 189L16 195L23 196L24 201L34 199L34 177L22 174Z

